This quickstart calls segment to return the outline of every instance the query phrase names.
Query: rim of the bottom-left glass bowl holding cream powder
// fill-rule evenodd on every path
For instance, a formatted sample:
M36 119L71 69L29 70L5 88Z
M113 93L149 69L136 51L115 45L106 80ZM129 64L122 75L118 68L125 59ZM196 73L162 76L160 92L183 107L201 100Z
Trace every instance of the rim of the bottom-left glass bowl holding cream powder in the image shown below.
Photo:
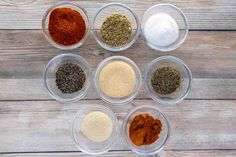
M75 135L75 126L76 126L76 121L79 119L79 115L83 112L83 111L100 111L100 112L103 112L105 114L107 114L108 116L109 115L112 115L111 120L113 122L113 125L114 125L114 129L112 132L113 132L113 139L111 140L111 142L106 146L106 149L104 149L103 151L100 151L100 152L90 152L90 151L87 151L86 149L82 148L78 142L77 142L77 138L76 138L76 135ZM112 134L111 134L112 135ZM101 154L104 154L106 153L107 151L109 151L109 149L112 147L112 145L115 143L116 139L118 138L118 135L119 135L119 123L118 123L118 119L116 117L116 114L108 107L104 106L104 105L98 105L98 104L89 104L88 106L86 107L82 107L77 113L76 115L74 116L74 119L72 121L72 124L71 124L71 136L72 136L72 139L74 141L74 143L76 144L77 148L79 150L81 150L82 152L86 153L86 154L90 154L90 155L101 155Z

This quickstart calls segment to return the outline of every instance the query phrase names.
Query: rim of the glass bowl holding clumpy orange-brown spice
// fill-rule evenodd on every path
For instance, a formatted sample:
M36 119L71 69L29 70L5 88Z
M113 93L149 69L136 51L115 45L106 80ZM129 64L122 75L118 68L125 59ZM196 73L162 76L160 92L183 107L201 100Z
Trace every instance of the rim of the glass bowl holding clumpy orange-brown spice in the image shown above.
M134 112L136 112L140 109L143 109L143 108L148 108L148 109L155 110L156 112L158 112L161 115L161 117L163 117L163 119L165 120L165 124L167 126L167 136L166 136L164 142L158 147L157 150L152 150L151 152L141 152L141 151L139 151L139 149L135 148L133 146L134 144L129 140L129 135L126 134L126 125L127 125L128 119L130 118L130 116L132 116L132 114ZM121 128L122 128L122 135L123 135L124 141L127 143L127 145L131 148L132 151L134 151L135 153L137 153L139 155L154 155L154 154L157 154L158 152L160 152L164 148L164 146L168 142L170 134L171 134L171 126L170 126L170 122L169 122L167 116L159 108L157 108L156 106L151 106L151 105L140 105L140 106L137 106L137 107L134 107L133 109L131 109L126 114L126 116L123 120Z

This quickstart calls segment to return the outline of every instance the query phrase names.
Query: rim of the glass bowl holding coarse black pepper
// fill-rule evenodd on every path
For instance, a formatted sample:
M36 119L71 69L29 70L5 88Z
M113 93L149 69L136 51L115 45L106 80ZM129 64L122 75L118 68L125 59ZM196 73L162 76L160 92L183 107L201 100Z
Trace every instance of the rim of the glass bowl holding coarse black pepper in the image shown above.
M76 58L76 60L80 60L80 64L83 64L87 68L87 71L86 71L87 84L85 84L84 91L79 96L76 96L76 97L70 98L70 99L64 99L64 98L61 98L60 96L56 95L53 91L50 90L50 88L48 86L48 83L47 83L47 73L48 73L50 65L54 61L56 61L57 59L60 59L60 58L66 57L66 56ZM80 99L84 98L84 96L87 94L88 89L89 89L89 87L91 85L91 78L90 77L91 77L91 68L89 66L89 63L82 56L77 55L77 54L73 54L73 53L63 53L63 54L60 54L60 55L57 55L57 56L53 57L47 63L47 65L46 65L46 67L44 69L44 72L43 72L43 84L44 84L44 87L46 88L48 94L53 99L55 99L55 100L57 100L59 102L62 102L62 103L72 103L72 102L79 101Z

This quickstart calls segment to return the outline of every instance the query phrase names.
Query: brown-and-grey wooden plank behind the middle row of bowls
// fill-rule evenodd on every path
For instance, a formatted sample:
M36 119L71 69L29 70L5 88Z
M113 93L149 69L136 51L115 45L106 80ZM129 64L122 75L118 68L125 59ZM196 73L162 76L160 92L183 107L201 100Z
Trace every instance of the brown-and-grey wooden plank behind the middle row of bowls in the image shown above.
M189 99L235 99L235 43L236 32L197 31L189 34L183 47L170 53L157 53L139 38L130 49L114 54L100 48L90 35L81 48L72 52L88 60L93 71L102 59L123 55L134 60L143 75L147 64L156 57L174 55L184 60L193 73ZM0 31L0 100L51 99L42 75L47 62L60 53L47 43L41 31ZM86 99L97 98L91 88ZM143 86L138 98L147 98Z

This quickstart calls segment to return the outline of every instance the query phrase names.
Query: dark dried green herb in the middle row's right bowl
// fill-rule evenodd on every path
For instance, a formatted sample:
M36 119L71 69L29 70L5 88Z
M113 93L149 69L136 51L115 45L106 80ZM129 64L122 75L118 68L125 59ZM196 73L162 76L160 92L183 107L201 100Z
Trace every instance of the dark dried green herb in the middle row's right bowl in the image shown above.
M181 74L172 67L158 68L151 77L153 90L167 95L175 92L181 85Z

